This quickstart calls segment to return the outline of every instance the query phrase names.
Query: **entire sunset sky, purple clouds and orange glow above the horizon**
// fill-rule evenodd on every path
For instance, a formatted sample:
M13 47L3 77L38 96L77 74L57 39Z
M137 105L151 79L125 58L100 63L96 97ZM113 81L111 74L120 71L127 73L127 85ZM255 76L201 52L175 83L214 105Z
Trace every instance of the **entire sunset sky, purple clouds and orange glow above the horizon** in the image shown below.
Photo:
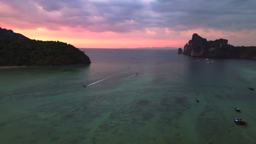
M0 0L0 27L79 48L256 46L255 0Z

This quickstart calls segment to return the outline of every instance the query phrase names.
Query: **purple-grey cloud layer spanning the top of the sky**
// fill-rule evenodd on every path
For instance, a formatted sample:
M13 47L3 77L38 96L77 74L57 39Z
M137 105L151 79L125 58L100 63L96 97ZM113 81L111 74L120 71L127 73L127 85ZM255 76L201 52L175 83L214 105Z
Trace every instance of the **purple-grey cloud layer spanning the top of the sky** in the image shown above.
M19 27L57 29L60 26L79 26L94 32L128 32L148 27L170 27L173 30L256 28L255 0L0 2L1 5L7 4L14 9L9 13L0 13L0 20Z

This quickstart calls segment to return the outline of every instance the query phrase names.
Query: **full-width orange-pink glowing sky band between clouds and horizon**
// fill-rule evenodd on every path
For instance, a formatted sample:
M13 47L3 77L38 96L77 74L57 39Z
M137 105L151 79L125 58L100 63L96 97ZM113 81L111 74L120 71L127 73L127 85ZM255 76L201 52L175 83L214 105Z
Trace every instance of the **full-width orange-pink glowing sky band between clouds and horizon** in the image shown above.
M50 30L44 27L21 29L0 22L2 28L12 29L30 39L44 41L62 41L78 48L136 48L136 47L184 47L193 33L198 33L207 40L224 38L235 46L252 46L256 30L253 31L220 31L216 29L190 29L188 31L172 31L167 28L147 28L145 31L126 33L90 32L86 29L61 27Z

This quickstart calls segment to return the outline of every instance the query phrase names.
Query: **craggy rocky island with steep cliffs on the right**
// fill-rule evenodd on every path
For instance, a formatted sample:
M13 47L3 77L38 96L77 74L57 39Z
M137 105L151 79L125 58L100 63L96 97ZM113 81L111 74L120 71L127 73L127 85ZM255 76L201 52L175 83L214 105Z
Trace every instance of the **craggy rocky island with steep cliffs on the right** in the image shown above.
M226 39L207 41L198 34L184 46L184 55L214 58L242 58L256 60L256 46L233 46Z

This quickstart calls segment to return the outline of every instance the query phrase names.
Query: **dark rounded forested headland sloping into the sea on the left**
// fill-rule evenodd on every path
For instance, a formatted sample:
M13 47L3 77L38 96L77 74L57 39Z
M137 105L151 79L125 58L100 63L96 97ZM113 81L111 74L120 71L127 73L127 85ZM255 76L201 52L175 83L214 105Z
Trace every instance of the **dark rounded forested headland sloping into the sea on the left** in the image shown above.
M90 58L73 45L32 40L0 27L0 67L89 63Z

